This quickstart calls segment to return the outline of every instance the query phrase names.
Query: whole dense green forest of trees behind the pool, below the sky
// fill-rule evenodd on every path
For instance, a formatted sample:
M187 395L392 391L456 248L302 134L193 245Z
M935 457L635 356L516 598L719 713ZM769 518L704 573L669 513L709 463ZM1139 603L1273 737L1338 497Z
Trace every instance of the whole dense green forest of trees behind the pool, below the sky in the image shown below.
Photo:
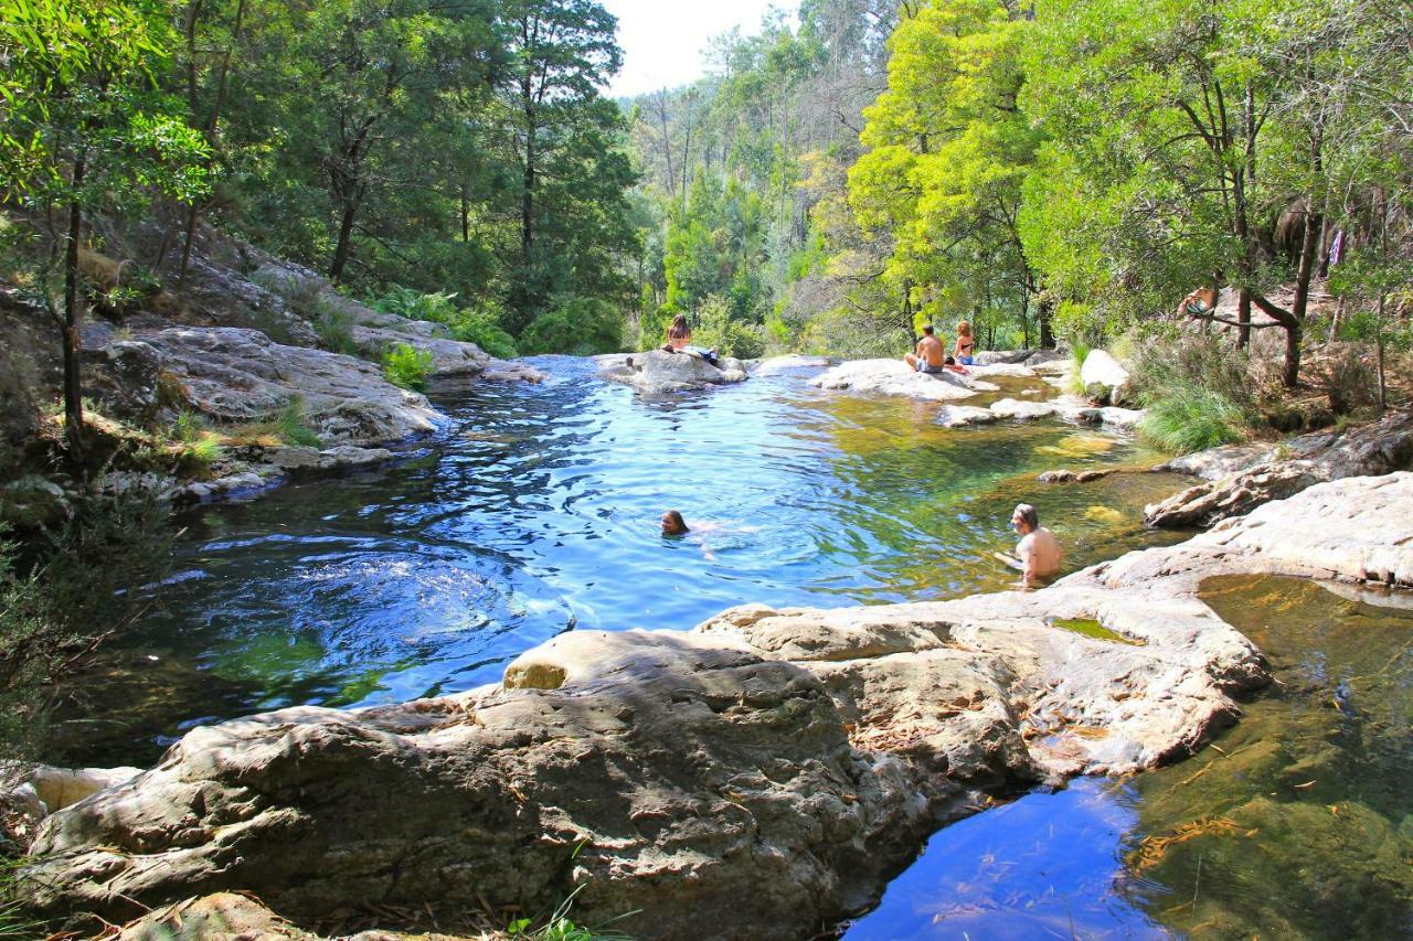
M1094 343L1205 285L1294 384L1327 276L1407 332L1406 0L804 0L625 102L593 0L0 6L4 199L71 322L116 213L162 277L216 225L502 355L675 314L740 355Z

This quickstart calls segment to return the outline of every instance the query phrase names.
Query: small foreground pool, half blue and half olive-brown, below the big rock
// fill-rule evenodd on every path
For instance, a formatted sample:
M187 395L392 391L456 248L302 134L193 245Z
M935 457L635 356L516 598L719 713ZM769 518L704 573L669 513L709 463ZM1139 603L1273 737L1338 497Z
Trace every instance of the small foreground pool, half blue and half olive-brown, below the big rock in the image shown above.
M938 831L851 941L1413 938L1413 598L1222 576L1277 680L1195 757Z

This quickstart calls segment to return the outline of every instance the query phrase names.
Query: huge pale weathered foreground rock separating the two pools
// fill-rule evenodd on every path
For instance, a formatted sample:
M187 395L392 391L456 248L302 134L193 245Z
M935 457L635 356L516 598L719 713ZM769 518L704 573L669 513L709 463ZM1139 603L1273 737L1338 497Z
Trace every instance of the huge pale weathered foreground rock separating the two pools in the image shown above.
M643 910L636 937L805 937L988 795L1201 747L1267 674L1200 584L1413 585L1409 520L1413 475L1345 478L1039 592L572 632L466 694L196 729L44 822L31 904L451 925L578 890L588 924Z

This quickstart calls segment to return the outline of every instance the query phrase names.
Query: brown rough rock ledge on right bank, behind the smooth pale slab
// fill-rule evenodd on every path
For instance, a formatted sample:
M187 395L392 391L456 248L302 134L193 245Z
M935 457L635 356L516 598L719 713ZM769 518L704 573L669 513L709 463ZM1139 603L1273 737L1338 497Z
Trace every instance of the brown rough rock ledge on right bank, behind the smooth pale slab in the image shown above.
M1413 408L1345 432L1323 431L1282 445L1236 445L1159 465L1205 478L1145 510L1157 527L1207 527L1283 500L1308 486L1342 478L1413 468Z

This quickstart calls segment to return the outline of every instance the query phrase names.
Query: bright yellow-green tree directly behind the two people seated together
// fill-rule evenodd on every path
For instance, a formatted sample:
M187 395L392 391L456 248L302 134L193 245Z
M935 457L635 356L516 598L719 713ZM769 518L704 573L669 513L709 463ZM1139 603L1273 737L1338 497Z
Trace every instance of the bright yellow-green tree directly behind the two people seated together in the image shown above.
M849 205L865 232L893 235L883 278L907 329L916 316L992 307L1029 322L1040 278L1019 218L1041 134L1017 96L1030 28L1000 0L933 0L889 41L887 90L865 110ZM1043 311L1039 339L1051 345Z

